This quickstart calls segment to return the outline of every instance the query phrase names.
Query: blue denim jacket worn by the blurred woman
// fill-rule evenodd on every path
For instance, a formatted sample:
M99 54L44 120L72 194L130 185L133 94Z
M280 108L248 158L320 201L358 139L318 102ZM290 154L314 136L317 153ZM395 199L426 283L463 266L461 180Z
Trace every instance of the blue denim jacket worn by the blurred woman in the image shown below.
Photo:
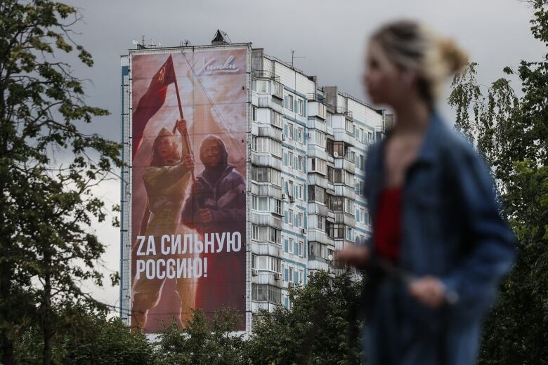
M365 165L364 194L373 225L384 188L385 141L370 147ZM441 279L459 298L448 307L448 317L478 322L514 262L516 239L500 216L485 162L436 110L405 173L400 219L398 265L418 277ZM412 298L402 305L411 314L426 311Z

